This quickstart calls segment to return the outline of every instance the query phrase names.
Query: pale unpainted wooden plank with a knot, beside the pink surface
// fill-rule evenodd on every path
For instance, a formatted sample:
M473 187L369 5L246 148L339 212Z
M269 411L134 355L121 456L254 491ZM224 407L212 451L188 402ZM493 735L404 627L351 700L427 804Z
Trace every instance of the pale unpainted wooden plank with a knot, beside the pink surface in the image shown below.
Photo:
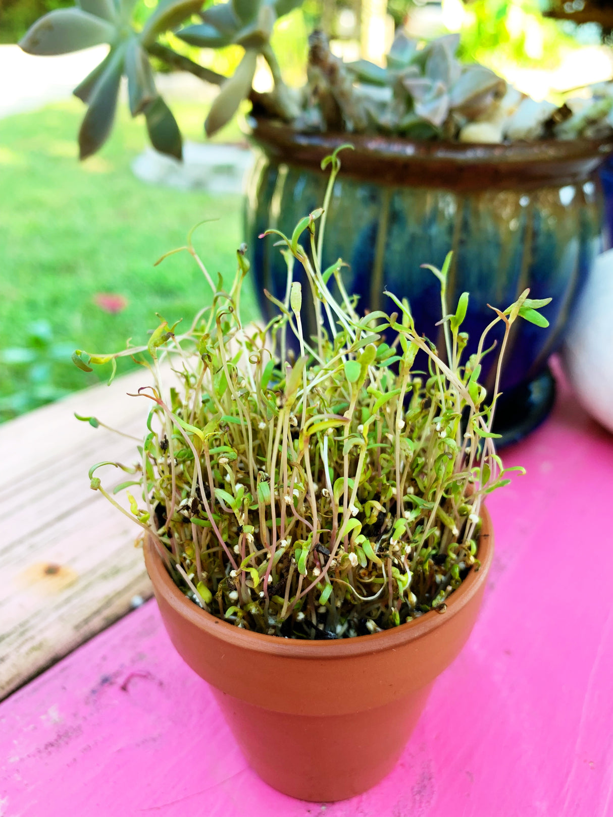
M142 436L149 401L126 392L149 380L140 369L0 426L0 698L150 596L138 528L87 478L95 462L135 462L136 442L74 418Z

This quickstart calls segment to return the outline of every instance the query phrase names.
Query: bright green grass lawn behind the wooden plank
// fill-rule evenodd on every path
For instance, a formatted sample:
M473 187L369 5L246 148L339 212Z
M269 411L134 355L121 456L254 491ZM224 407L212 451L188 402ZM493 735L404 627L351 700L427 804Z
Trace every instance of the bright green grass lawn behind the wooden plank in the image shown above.
M201 138L206 111L173 109L184 134ZM156 312L170 322L190 319L210 300L194 261L180 253L153 265L185 243L196 222L218 219L195 236L209 272L232 275L235 267L240 196L172 190L132 176L130 163L146 135L125 106L101 153L79 163L75 136L83 110L70 100L0 120L0 350L24 346L29 325L44 320L60 357L50 364L51 377L44 360L38 368L0 364L3 398L27 391L37 379L69 390L95 382L96 374L65 359L65 345L119 350L128 337L145 340L157 325ZM238 129L229 126L221 140L237 137ZM96 294L107 292L122 295L128 306L115 315L96 306ZM17 410L32 407L26 400ZM5 405L0 418L12 413Z

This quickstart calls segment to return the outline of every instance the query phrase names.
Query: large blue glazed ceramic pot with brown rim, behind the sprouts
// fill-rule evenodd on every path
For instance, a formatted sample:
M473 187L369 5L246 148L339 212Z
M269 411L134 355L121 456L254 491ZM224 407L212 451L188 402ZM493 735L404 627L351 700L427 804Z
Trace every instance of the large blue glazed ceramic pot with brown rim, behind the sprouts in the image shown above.
M470 292L463 324L470 335L468 354L494 317L488 304L504 308L526 287L530 297L552 297L543 310L549 327L521 321L509 340L499 413L507 441L543 419L553 402L544 374L548 357L562 342L601 249L596 171L611 144L409 142L300 134L263 120L253 122L252 138L261 154L248 184L246 224L258 292L266 288L283 299L287 275L279 248L272 239L258 240L258 234L268 227L291 234L302 216L320 206L328 179L320 161L349 141L355 150L341 154L324 267L338 257L347 261L347 291L360 295L363 310L396 309L384 289L407 297L418 331L436 341L442 332L435 325L441 318L438 282L420 265L440 267L453 250L449 306L454 310L460 294ZM262 310L274 312L266 300ZM309 334L312 320L304 316ZM497 350L484 360L482 382L490 389L496 360Z

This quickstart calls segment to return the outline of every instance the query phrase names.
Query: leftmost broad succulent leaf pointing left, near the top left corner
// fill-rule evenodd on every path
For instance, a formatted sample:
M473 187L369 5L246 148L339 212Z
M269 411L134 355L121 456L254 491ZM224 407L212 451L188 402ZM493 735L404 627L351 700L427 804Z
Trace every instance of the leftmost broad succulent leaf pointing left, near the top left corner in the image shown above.
M25 33L20 47L28 54L69 54L83 48L113 42L113 25L80 8L59 8L41 17Z

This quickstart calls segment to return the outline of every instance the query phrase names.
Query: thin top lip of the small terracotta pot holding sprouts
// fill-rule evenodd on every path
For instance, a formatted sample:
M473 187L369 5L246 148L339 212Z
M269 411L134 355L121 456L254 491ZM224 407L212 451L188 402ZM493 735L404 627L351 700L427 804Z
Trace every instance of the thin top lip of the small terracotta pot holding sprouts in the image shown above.
M444 614L430 610L411 622L400 624L382 632L375 632L366 636L354 638L339 638L336 640L301 641L294 638L268 636L261 632L252 632L235 627L234 624L222 621L206 610L200 608L188 599L172 581L163 563L159 551L154 546L153 539L145 537L144 552L145 565L151 582L154 585L156 596L163 596L164 601L175 609L177 614L190 620L199 629L207 632L229 645L241 647L244 650L274 654L280 657L293 659L341 659L356 657L364 654L374 654L383 650L393 650L397 646L405 645L410 641L427 636L428 633L445 625L454 618L461 609L472 599L485 582L494 556L494 534L490 515L485 507L481 507L481 536L479 539L478 556L481 566L478 571L472 568L462 584L450 594L446 600Z

